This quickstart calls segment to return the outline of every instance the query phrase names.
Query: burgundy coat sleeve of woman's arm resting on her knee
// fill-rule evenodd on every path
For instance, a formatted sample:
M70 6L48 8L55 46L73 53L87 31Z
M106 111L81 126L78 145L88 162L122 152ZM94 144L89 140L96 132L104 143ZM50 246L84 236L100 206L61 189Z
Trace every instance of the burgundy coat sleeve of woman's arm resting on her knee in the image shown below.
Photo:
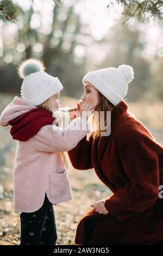
M105 208L120 221L150 208L159 194L159 163L154 140L136 131L123 137L125 142L119 138L117 150L130 181L104 201Z

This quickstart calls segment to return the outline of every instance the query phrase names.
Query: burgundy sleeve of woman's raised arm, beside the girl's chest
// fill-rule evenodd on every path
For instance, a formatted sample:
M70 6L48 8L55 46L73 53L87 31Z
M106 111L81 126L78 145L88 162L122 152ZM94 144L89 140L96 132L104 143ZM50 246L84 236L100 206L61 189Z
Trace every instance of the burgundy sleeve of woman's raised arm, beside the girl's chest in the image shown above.
M68 151L68 156L74 168L79 170L93 168L91 157L92 142L93 134L90 135L89 139L85 136L75 148Z

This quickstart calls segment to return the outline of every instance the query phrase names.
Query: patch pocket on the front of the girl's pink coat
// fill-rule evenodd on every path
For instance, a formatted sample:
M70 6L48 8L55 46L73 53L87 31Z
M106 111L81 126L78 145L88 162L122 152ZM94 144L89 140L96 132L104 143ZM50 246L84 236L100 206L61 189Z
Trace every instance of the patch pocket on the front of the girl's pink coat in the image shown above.
M70 192L70 181L67 176L66 169L64 173L50 174L50 193L51 197L57 198L62 194Z

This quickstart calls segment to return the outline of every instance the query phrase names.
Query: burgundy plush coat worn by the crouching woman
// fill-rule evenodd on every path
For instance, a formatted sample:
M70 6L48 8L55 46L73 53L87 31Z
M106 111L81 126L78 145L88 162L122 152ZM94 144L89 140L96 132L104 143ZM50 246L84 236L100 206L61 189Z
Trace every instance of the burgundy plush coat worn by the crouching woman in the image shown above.
M85 222L99 217L89 245L150 245L163 239L163 147L121 101L111 112L110 136L86 136L68 151L74 168L95 168L112 191L109 214L94 209L79 221L75 243L86 244Z

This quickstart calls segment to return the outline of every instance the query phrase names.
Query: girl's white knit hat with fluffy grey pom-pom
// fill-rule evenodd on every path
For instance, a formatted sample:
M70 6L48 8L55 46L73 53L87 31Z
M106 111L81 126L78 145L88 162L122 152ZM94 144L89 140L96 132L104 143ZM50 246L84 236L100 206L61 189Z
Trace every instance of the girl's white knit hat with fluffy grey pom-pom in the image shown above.
M18 66L18 74L24 78L21 96L35 106L63 89L58 77L50 76L44 70L43 63L37 59L27 59Z

